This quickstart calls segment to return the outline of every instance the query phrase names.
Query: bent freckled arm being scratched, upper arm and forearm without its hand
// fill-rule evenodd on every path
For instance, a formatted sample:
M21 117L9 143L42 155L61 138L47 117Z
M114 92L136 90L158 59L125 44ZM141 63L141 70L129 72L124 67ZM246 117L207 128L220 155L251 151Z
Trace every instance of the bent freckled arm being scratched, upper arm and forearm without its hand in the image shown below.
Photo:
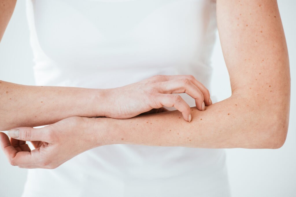
M177 111L106 119L106 143L200 148L279 148L289 124L290 72L276 0L217 0L232 95L192 122ZM101 128L99 120L95 128Z

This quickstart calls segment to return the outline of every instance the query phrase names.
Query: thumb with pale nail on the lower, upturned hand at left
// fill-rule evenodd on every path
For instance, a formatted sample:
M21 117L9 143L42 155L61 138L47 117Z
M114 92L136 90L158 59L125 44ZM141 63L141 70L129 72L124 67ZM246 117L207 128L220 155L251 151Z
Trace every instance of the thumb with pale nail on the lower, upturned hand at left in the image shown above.
M7 135L11 138L22 140L22 141L46 141L49 142L48 130L46 127L43 128L32 128L32 127L18 127L10 129Z

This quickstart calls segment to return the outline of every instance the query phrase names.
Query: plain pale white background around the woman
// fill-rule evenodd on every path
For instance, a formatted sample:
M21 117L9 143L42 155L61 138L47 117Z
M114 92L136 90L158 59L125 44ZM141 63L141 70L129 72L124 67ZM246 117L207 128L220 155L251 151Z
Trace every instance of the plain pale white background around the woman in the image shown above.
M296 1L281 0L278 4L288 44L292 82L287 140L280 149L226 150L233 197L296 196ZM0 44L0 79L34 85L32 58L25 1L17 1ZM218 101L221 101L231 95L231 89L219 40L215 45L212 63L214 73L211 94L217 95ZM20 196L26 172L25 169L10 166L0 151L0 196Z

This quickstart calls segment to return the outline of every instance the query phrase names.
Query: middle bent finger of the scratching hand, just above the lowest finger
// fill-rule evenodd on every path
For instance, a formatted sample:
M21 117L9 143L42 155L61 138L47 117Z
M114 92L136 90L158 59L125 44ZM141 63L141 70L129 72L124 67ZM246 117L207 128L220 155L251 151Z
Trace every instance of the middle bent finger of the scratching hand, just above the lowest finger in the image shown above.
M205 103L204 103L204 95L200 91L200 89L194 85L189 79L174 79L166 82L162 82L163 84L163 93L183 93L185 92L195 100L195 105L197 109L204 111Z

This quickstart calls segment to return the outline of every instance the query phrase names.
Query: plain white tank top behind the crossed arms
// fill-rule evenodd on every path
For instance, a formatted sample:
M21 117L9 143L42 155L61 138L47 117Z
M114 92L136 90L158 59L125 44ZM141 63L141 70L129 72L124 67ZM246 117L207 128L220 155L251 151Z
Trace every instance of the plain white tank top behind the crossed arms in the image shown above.
M36 85L113 88L192 74L209 88L215 7L215 0L27 0ZM54 170L28 170L22 196L230 193L224 149L115 144Z

